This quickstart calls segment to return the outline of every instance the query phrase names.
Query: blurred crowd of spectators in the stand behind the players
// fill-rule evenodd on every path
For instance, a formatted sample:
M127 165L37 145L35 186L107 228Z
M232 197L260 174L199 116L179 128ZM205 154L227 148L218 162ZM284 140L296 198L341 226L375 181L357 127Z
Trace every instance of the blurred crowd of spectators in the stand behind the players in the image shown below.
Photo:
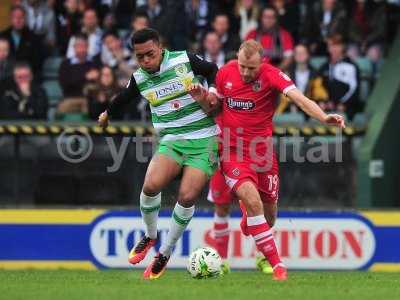
M165 47L218 66L235 58L241 41L258 40L265 59L300 90L352 119L363 109L362 81L372 86L395 36L400 9L396 0L12 2L9 27L0 32L0 119L48 119L53 109L51 118L95 120L138 68L129 37L145 27L157 29ZM57 74L49 78L52 64ZM47 95L48 81L59 86L58 98ZM117 119L141 119L145 111L142 100ZM297 109L281 97L277 111Z

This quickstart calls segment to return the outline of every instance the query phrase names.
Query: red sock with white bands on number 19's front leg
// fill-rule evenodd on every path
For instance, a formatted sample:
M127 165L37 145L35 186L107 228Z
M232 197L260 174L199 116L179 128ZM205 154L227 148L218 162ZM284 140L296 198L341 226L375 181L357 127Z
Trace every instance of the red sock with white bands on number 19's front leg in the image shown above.
M281 259L276 249L272 230L267 224L263 215L247 217L249 234L254 238L258 251L260 251L269 261L272 267L281 263Z

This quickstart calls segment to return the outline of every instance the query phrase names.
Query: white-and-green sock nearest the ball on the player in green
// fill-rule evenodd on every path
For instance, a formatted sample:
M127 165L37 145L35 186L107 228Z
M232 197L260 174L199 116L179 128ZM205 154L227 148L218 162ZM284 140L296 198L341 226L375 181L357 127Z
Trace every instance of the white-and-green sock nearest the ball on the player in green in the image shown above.
M194 214L194 205L191 207L183 207L178 202L172 212L172 218L169 225L167 238L160 248L160 253L165 256L171 256L172 250L176 242L180 239L187 225Z

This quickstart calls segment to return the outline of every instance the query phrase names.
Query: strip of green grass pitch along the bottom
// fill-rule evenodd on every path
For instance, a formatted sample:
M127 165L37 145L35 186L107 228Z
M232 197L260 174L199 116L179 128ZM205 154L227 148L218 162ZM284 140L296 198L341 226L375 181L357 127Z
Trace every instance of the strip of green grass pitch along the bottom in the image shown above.
M0 299L400 299L400 274L290 272L274 282L259 272L233 272L218 279L191 279L168 270L145 281L140 271L0 271Z

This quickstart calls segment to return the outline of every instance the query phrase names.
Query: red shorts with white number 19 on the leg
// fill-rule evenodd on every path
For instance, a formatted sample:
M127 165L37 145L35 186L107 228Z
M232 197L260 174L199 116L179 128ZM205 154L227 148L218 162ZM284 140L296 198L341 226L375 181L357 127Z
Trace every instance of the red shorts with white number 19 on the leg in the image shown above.
M222 172L225 181L232 190L236 190L246 181L253 182L260 192L263 202L276 203L279 194L279 167L275 153L272 163L257 169L251 161L222 161Z

